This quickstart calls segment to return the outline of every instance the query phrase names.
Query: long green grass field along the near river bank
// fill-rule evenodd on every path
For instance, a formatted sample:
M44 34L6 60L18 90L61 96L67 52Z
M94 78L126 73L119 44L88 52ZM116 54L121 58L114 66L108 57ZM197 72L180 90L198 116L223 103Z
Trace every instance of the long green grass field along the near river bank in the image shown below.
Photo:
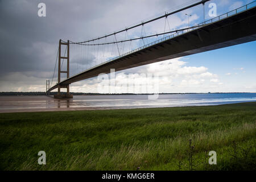
M191 157L195 170L256 169L256 102L5 113L0 129L1 170L189 170Z

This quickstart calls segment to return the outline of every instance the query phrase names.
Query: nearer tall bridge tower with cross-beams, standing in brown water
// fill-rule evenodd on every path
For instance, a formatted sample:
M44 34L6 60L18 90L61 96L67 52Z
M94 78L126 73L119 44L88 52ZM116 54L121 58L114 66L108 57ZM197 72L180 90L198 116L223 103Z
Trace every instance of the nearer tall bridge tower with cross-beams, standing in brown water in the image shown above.
M61 56L61 46L67 46L67 57L65 57L65 55ZM67 70L65 70L65 71L61 71L61 59L63 59L63 61L67 62ZM56 95L54 95L54 98L73 98L73 95L69 93L69 85L60 85L61 73L66 73L67 78L69 78L69 40L68 40L68 42L63 42L60 39L60 42L59 42L59 64L58 64L58 92ZM61 94L60 93L61 88L66 88L67 93Z

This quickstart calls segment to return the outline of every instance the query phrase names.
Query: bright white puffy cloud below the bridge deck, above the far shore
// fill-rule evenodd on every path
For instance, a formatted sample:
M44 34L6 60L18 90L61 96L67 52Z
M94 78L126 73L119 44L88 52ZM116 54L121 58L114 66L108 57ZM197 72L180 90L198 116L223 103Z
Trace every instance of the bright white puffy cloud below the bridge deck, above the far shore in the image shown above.
M115 79L110 79L110 75L108 75L108 83L115 82L115 87L109 86L108 88L97 90L99 82L97 78L93 78L90 81L85 80L83 86L72 86L72 90L78 92L82 90L81 88L84 88L86 92L94 90L94 92L101 93L130 93L131 90L135 90L135 93L145 93L143 86L150 85L154 87L158 85L160 93L170 93L203 92L202 90L208 92L209 88L218 88L216 85L218 76L216 74L208 72L208 68L191 67L187 64L187 62L182 61L182 57L148 64L116 72ZM154 80L156 76L158 77L157 81ZM130 83L133 86L129 85ZM218 85L221 84L219 83Z

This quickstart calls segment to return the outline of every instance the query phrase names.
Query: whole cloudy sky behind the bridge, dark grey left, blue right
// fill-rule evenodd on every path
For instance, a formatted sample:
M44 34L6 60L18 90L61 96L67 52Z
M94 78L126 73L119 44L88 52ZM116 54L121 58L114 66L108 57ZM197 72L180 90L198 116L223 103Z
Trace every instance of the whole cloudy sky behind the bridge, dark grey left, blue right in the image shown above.
M46 4L45 17L38 16L38 4L41 2ZM52 80L59 39L82 42L97 38L192 2L199 1L0 0L0 92L44 92L46 80ZM210 18L209 3L216 3L217 15L221 15L250 2L253 1L212 0L205 5L205 18ZM168 22L159 20L145 26L145 30L138 28L129 35L118 35L117 39L187 27L188 16L185 14L191 15L190 26L203 22L203 9L199 5L171 15ZM145 41L150 43L156 39ZM110 40L113 41L113 38ZM121 51L124 53L141 45L139 40L130 48L124 44ZM82 47L79 52L76 46L71 46L71 73L78 73L117 56L117 50L106 47L102 52L102 48L96 48L96 51ZM112 91L111 88L99 90L100 81L94 77L71 84L71 92L127 93L129 89L122 89L118 84L125 85L131 81L143 84L151 79L150 75L158 76L159 93L256 92L255 48L254 41L126 69L115 73L117 86ZM90 53L85 55L82 49ZM56 73L53 79L55 83ZM144 93L145 90L130 89L129 92Z

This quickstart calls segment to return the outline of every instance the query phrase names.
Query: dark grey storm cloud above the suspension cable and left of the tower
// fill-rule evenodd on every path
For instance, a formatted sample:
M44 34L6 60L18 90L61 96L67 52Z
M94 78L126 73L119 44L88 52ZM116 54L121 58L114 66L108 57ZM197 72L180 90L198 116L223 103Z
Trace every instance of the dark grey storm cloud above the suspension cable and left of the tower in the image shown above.
M38 16L40 2L46 3L46 17ZM51 78L59 39L79 42L95 38L184 2L187 1L2 0L0 80L13 74L8 79L11 81L14 73Z

